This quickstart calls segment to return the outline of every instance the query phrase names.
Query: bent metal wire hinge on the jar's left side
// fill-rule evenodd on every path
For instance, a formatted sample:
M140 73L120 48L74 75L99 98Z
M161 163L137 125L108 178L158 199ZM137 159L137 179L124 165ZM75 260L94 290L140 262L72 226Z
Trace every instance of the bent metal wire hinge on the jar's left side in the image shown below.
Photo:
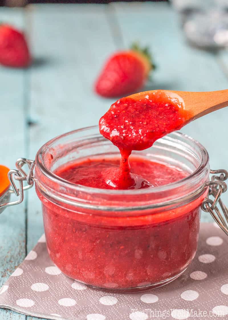
M22 169L22 167L27 164L28 166L28 174ZM2 207L8 207L14 204L20 204L24 199L24 190L27 190L33 186L34 178L33 178L33 169L35 166L35 162L33 160L28 160L25 158L19 158L16 161L17 170L12 169L8 172L8 178L11 183L12 189L9 189L8 193L14 193L16 196L19 196L19 199L16 201L1 203L0 202L0 213L2 212ZM16 181L19 183L19 188L16 186ZM23 182L26 181L27 185L24 186Z

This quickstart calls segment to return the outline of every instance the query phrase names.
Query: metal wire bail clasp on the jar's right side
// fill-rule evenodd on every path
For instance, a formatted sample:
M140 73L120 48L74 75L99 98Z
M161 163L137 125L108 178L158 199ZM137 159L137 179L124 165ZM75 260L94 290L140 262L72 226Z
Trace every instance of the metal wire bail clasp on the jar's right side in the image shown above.
M212 173L213 176L211 177L210 181L205 183L205 186L209 187L209 192L208 196L201 204L201 209L204 212L209 212L218 226L228 236L228 210L221 200L222 193L226 192L227 190L227 185L224 180L228 178L228 172L226 170L220 169L211 170L210 173ZM210 199L209 196L213 196L214 200ZM224 216L220 212L217 204L220 205Z

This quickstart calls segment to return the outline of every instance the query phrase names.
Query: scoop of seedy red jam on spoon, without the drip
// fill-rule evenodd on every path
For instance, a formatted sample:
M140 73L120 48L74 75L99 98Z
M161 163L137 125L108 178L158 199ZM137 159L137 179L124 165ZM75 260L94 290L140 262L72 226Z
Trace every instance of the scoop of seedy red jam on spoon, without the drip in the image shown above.
M122 98L113 103L99 126L101 134L120 150L144 150L164 135L179 130L185 118L179 104L147 98Z

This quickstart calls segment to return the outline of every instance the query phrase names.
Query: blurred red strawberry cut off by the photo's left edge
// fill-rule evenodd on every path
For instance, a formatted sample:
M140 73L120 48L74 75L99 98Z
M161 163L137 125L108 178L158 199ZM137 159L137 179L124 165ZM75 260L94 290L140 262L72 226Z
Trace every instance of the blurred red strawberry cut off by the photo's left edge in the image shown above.
M0 64L23 68L31 63L26 39L22 32L7 24L0 24Z

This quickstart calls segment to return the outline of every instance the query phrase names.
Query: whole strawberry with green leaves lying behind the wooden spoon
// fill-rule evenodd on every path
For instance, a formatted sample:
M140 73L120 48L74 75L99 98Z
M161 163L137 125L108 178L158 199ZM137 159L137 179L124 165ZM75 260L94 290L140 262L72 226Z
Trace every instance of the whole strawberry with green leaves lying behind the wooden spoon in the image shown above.
M107 98L137 92L153 68L148 48L141 50L134 44L131 50L117 52L109 58L96 80L95 91Z

